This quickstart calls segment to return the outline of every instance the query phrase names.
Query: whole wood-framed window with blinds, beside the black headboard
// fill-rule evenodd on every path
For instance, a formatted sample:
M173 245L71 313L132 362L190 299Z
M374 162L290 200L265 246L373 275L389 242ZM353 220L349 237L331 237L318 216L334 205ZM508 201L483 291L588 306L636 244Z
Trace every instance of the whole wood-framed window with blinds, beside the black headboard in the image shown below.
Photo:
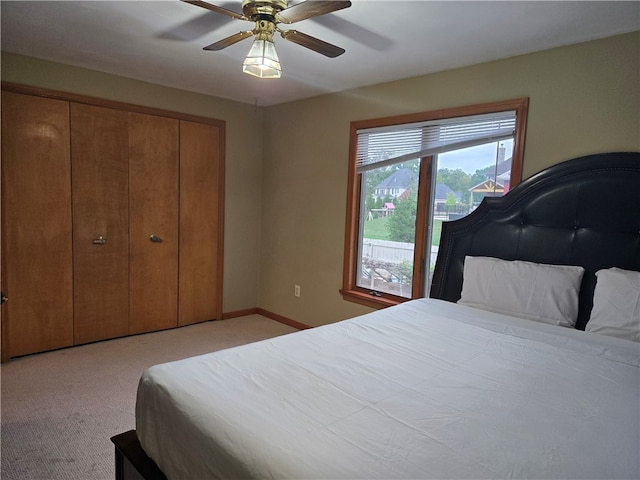
M522 98L352 122L346 300L427 296L442 222L520 182L527 107Z

